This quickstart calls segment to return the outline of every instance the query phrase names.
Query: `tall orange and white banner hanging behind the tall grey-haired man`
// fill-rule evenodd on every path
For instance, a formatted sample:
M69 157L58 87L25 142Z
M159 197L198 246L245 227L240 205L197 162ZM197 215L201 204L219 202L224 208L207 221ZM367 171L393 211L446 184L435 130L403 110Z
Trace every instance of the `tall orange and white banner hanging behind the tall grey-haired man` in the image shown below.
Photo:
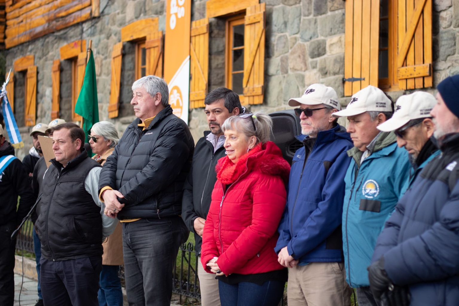
M164 42L164 79L174 114L188 123L190 103L191 0L168 0Z

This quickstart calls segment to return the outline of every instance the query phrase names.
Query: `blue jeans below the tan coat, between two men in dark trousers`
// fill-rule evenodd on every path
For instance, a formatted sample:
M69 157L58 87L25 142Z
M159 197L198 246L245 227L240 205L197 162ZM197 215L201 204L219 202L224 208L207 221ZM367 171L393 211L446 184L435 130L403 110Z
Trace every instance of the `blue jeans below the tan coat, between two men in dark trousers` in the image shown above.
M99 306L123 306L123 291L118 276L119 266L102 265Z

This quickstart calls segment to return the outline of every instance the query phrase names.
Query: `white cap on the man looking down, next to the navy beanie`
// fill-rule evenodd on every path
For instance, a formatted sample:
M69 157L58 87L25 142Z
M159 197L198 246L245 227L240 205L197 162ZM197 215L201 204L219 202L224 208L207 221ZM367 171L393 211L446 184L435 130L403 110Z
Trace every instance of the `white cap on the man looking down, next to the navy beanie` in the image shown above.
M406 125L409 120L430 118L437 99L428 92L416 91L398 98L392 118L377 126L378 130L390 132Z

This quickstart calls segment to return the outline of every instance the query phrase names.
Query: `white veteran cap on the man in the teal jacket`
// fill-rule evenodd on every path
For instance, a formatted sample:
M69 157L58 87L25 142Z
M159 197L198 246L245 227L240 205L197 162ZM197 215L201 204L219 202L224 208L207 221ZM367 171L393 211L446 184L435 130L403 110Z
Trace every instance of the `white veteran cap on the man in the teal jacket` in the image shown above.
M347 117L365 112L392 112L392 101L381 89L369 85L351 97L346 109L332 113L332 116Z

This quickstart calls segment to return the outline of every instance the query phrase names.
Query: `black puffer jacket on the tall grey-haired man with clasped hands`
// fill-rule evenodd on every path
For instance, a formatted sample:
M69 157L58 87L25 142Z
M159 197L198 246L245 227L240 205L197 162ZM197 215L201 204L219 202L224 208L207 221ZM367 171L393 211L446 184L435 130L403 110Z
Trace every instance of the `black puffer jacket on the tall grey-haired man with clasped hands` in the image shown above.
M190 171L194 141L170 106L145 130L135 119L101 170L99 192L109 186L123 193L118 219L180 215L183 183Z

